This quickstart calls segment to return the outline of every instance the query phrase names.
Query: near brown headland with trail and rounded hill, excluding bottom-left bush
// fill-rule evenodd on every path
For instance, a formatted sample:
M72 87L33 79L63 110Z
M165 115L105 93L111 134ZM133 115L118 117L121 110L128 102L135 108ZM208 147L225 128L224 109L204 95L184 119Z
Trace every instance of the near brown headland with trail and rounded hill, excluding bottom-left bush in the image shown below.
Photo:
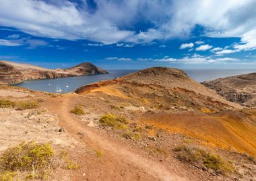
M75 92L0 86L0 178L5 150L34 140L75 163L48 180L255 180L256 109L182 70L148 68Z

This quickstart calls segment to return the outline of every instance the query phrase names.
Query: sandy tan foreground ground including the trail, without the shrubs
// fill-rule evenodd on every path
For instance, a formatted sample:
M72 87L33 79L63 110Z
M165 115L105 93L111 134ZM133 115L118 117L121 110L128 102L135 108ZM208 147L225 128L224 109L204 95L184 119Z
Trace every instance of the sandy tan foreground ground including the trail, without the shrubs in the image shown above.
M187 137L171 130L165 131L161 128L141 129L143 137L140 141L134 141L125 139L122 136L122 131L99 127L98 119L104 113L125 116L139 127L148 125L148 123L144 124L146 119L139 118L146 113L151 113L148 111L153 109L145 105L138 105L139 101L129 99L115 88L113 90L104 90L103 88L86 95L65 94L61 97L53 97L44 93L22 92L22 90L16 89L0 91L3 93L0 98L4 99L8 99L8 94L15 93L15 95L19 95L15 98L16 101L41 100L38 109L24 111L17 111L13 108L0 109L0 152L22 140L51 141L57 149L67 149L79 164L78 170L57 169L51 180L234 179L234 177L227 178L199 170L175 158L172 152L175 146L184 143L187 139L199 143L200 140L197 138ZM8 94L5 94L5 91ZM20 93L17 94L19 91ZM22 93L24 93L23 96ZM118 93L119 96L115 96L115 93ZM84 106L86 115L75 116L70 113L70 110L77 104ZM120 106L123 109L117 109ZM151 121L153 125L155 119L151 119ZM166 120L162 125L167 122ZM61 127L64 128L64 132L56 131ZM152 152L156 148L164 148L167 156ZM97 151L101 151L103 156L98 158ZM230 154L229 151L223 152L230 155L230 158L236 158L243 162L245 171L241 172L243 178L239 178L239 180L253 179L255 165L245 162L245 159L238 154ZM248 171L249 167L251 170ZM244 176L244 172L247 175Z

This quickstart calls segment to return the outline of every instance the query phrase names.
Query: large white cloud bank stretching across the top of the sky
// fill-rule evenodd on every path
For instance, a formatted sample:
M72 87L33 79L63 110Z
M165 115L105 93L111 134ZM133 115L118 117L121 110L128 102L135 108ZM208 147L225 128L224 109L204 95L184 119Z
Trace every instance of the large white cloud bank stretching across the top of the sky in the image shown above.
M86 2L78 7L68 0L0 0L0 25L34 36L103 44L186 38L201 25L204 36L241 38L238 51L256 48L254 0L95 0L95 9ZM131 30L140 22L152 25L143 32Z

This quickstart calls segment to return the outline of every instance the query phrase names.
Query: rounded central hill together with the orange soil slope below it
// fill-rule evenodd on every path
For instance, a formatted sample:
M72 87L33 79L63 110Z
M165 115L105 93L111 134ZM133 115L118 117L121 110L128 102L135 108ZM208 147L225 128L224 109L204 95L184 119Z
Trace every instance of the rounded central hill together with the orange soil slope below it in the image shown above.
M110 100L129 105L127 109L142 111L135 118L141 123L196 137L210 146L256 155L256 117L182 70L148 68L83 86L76 93L96 97L106 94Z

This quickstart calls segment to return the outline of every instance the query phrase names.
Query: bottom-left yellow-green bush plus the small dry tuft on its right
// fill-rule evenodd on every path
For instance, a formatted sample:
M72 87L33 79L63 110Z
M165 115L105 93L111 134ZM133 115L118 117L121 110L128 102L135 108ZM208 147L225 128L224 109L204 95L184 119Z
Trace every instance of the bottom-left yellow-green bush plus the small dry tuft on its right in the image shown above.
M61 166L69 170L78 168L67 154L55 154L51 143L22 142L1 155L0 180L47 180Z

